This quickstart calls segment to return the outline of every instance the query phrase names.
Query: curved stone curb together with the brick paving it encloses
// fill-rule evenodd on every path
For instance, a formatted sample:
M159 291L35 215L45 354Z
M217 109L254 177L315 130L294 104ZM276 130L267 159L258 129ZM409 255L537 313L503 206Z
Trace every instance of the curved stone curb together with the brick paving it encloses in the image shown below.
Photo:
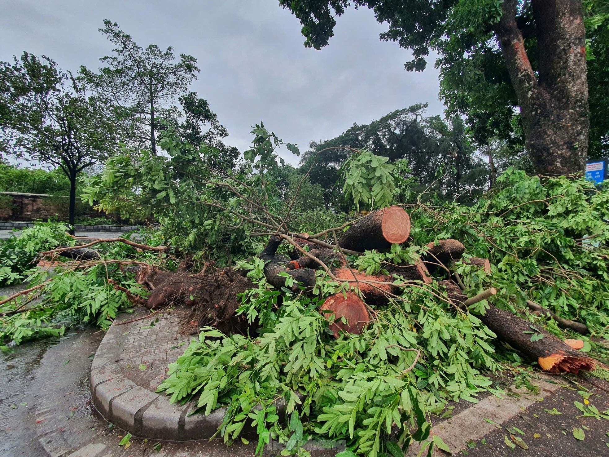
M148 310L121 316L108 329L91 364L91 397L97 411L133 436L171 441L209 439L214 434L226 409L209 414L194 411L192 402L170 404L169 397L156 394L166 366L182 355L188 336L178 334L177 316L163 316L155 325L146 320L118 325ZM138 372L142 366L144 374ZM150 374L162 373L149 380ZM143 376L148 374L149 376Z

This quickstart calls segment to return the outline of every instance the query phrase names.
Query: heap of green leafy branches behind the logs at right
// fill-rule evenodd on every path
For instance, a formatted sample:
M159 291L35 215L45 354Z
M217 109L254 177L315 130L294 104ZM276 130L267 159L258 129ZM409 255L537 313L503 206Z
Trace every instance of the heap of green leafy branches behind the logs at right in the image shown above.
M561 317L586 322L593 336L606 335L607 188L567 177L542 181L511 168L498 184L500 191L471 208L414 208L411 236L418 244L459 239L469 255L489 258L495 264L491 277L468 274L474 268L466 264L457 271L471 287L491 283L501 289L496 302L505 308L528 314L526 300L533 300ZM547 325L561 333L554 322Z

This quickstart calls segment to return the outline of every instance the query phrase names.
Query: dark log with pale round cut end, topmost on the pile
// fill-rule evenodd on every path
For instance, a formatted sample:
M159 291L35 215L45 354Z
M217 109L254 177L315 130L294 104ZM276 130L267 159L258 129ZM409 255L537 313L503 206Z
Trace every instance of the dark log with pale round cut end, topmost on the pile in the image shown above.
M367 249L389 249L410 235L410 217L402 207L393 206L372 211L351 225L339 239L339 246L364 252Z

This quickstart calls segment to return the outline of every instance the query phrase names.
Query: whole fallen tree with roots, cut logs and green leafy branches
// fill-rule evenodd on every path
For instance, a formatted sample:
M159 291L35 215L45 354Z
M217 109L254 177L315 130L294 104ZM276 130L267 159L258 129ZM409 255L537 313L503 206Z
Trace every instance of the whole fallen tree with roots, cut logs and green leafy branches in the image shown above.
M276 137L261 126L256 131L262 133L247 152L255 172L211 172L171 135L162 143L171 147L168 157L136 165L113 158L94 179L91 199L107 210L125 202L152 207L164 224L138 244L169 249L122 241L83 248L65 239L41 248L31 240L42 236L24 233L19 239L29 252L69 245L74 249L61 252L94 249L99 258L45 255L55 275L43 284L49 273L38 273L40 287L30 283L29 292L0 304L2 336L60 333L51 321L61 313L104 328L132 301L184 305L200 335L161 389L172 402L192 399L206 413L228 406L220 430L227 441L255 421L258 452L270 438L297 452L303 420L311 433L378 455L390 433L406 445L418 428L425 439L432 408L475 401L491 385L485 374L505 361L532 361L550 372L604 367L596 338L609 324L607 191L584 180L509 171L492 199L473 207L402 205L409 224L392 223L391 230L379 216L388 210L354 219L326 211L301 224L294 202L306 174L293 193L281 194L273 181L276 158L265 149ZM367 168L359 175L379 193L368 207L374 200L389 208L391 186L373 180L392 179L390 166L375 160L350 169ZM119 192L133 182L137 193ZM340 243L348 232L351 249ZM449 244L455 249L442 248ZM39 292L48 301L33 305ZM527 300L542 310L531 310ZM585 325L590 336L561 330L560 319ZM32 333L20 334L24 328ZM287 423L276 417L279 399Z

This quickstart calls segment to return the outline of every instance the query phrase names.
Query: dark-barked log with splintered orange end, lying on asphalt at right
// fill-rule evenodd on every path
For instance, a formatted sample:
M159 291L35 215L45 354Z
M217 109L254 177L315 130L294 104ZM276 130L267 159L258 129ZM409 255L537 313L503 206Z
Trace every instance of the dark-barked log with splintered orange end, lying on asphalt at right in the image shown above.
M490 305L484 316L477 317L497 335L499 340L507 342L514 349L537 360L544 371L577 374L580 370L596 369L596 360L509 311ZM535 335L543 335L543 337L533 338L537 341L531 341L531 337Z

